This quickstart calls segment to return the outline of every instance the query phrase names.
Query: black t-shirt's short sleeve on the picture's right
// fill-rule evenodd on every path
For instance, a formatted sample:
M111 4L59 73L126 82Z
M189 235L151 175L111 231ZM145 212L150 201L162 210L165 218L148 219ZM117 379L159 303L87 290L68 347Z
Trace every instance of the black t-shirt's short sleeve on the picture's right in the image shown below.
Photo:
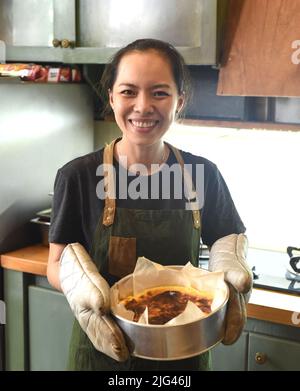
M217 166L213 165L210 173L205 175L207 186L202 209L202 241L212 246L224 236L244 233L246 228Z

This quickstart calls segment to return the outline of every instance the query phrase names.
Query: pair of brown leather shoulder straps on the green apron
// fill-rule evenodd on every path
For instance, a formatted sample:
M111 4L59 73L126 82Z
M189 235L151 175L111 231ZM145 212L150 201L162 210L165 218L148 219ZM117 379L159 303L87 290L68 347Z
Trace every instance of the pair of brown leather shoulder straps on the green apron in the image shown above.
M106 145L103 152L103 164L104 164L104 173L106 174L106 191L107 196L105 197L105 205L103 211L102 223L106 227L109 227L113 224L116 212L116 193L115 193L115 178L114 178L114 167L113 167L113 156L114 156L114 146L118 139L113 140L110 144ZM181 171L183 173L184 182L187 186L188 191L188 201L191 205L191 210L193 214L194 227L199 229L201 227L201 216L199 210L199 203L197 201L197 195L194 188L193 180L189 172L184 167L184 161L182 159L181 153L173 145L165 143L174 153L178 163L180 164ZM107 168L107 170L106 170Z

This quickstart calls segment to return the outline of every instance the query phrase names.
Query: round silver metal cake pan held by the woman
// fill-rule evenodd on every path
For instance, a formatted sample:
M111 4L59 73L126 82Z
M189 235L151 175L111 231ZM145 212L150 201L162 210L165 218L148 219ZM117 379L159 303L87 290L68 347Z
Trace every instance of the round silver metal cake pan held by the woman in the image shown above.
M124 277L121 281L131 278ZM113 318L123 330L133 356L148 360L181 360L204 353L224 337L226 306L229 297L227 285L226 300L222 307L209 316L182 325L145 325L128 321L116 314Z

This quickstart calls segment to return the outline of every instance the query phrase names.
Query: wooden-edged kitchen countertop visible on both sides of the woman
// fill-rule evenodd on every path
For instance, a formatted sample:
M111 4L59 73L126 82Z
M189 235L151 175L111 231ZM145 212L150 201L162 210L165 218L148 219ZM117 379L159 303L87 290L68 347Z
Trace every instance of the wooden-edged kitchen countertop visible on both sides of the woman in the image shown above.
M0 256L4 269L46 276L49 248L40 244ZM300 296L253 289L247 305L249 318L300 327Z

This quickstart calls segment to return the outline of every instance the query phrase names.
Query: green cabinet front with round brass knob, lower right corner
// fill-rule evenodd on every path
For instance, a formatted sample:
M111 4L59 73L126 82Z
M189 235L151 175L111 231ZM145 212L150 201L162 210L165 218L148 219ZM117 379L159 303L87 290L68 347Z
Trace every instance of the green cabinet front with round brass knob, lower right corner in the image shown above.
M264 335L249 335L249 371L299 371L300 343Z

